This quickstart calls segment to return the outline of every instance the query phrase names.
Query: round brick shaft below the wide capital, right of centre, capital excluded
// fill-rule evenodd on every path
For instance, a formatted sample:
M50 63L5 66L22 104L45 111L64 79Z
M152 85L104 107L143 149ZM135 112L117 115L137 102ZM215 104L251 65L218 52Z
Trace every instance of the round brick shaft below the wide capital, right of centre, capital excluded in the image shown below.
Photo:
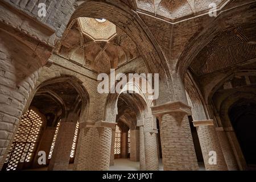
M162 115L160 134L164 170L197 170L195 148L187 115L177 121L180 113Z

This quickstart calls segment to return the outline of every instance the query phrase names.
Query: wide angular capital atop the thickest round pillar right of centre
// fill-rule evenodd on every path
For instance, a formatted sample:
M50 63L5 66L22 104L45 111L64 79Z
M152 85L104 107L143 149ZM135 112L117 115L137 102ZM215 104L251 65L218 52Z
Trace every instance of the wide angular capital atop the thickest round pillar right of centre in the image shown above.
M159 116L168 113L184 113L191 115L191 107L181 101L166 102L165 104L151 107L152 114Z

